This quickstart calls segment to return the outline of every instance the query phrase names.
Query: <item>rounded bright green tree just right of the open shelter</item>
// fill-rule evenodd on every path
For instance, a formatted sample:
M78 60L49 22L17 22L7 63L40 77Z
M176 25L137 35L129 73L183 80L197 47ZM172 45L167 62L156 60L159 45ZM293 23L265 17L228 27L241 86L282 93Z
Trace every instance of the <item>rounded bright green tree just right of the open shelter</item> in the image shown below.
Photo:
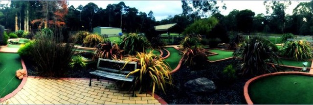
M183 35L209 35L209 32L218 24L218 22L219 21L215 17L198 19L185 29Z

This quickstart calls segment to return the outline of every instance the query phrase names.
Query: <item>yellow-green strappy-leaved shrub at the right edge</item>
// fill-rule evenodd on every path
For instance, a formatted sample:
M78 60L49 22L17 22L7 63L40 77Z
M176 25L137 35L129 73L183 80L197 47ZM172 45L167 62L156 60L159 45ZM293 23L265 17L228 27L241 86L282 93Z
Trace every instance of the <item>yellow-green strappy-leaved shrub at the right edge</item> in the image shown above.
M305 40L287 41L281 48L280 54L295 60L307 60L312 58L311 44Z

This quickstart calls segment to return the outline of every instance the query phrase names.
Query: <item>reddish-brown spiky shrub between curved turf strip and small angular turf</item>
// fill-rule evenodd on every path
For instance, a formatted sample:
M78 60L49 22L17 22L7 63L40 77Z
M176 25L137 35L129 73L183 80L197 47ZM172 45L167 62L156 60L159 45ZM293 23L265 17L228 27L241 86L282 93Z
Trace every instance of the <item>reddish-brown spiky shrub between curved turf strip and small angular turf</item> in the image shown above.
M207 60L205 49L201 47L195 46L193 48L186 48L183 51L183 61L189 66L200 66L207 62Z

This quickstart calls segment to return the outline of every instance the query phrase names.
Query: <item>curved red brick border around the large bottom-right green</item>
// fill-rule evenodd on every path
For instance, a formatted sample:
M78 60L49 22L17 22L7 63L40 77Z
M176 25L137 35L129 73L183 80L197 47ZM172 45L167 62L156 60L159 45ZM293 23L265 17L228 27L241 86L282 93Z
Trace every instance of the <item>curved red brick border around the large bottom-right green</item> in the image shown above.
M268 76L274 76L274 75L285 75L285 74L301 74L301 75L307 75L307 76L313 76L312 73L307 73L307 72L297 72L297 71L288 71L288 72L274 72L274 73L267 73L267 74L263 74L263 75L259 75L256 76L254 78L249 79L244 87L244 95L245 95L245 99L246 99L246 103L248 105L253 105L253 102L250 99L250 96L248 94L248 87L250 85L250 83L252 83L255 80L258 80L260 78L264 78L264 77L268 77Z

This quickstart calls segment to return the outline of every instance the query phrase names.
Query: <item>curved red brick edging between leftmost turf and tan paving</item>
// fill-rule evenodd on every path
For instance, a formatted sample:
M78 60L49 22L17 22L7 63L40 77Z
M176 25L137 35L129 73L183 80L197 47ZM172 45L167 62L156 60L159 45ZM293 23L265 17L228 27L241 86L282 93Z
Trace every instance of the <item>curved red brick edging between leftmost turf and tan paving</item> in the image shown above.
M26 84L26 81L27 81L27 69L26 69L26 66L25 66L25 63L24 63L24 60L21 58L21 62L22 62L22 67L23 67L23 70L26 70L26 74L24 75L23 79L22 79L22 82L21 84L18 86L18 88L16 88L13 92L7 94L6 96L0 98L0 103L4 102L5 100L13 97L15 94L17 94L22 88L23 86Z

